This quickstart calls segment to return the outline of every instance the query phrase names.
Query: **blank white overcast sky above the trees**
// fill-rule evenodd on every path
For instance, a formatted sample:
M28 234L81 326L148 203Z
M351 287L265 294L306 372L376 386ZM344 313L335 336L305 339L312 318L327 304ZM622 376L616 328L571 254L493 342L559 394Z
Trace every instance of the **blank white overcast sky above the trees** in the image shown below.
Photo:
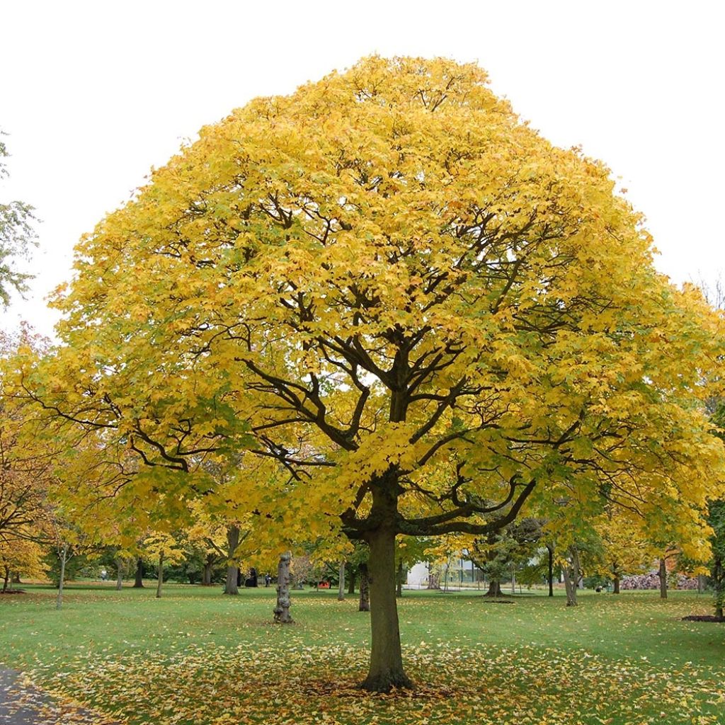
M725 270L725 4L4 0L0 199L36 207L32 294L0 312L51 333L72 247L185 138L259 95L373 52L478 61L560 146L604 159L674 281Z

